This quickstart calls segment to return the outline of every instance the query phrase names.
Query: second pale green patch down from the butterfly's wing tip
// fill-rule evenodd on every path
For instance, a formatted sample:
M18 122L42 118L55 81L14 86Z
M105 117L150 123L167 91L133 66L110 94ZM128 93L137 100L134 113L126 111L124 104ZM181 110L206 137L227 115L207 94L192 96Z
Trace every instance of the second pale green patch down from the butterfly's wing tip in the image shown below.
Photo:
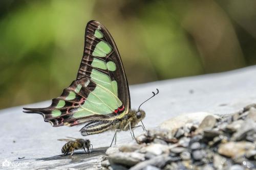
M105 57L107 54L111 52L111 46L105 41L100 41L94 48L93 56L96 57Z

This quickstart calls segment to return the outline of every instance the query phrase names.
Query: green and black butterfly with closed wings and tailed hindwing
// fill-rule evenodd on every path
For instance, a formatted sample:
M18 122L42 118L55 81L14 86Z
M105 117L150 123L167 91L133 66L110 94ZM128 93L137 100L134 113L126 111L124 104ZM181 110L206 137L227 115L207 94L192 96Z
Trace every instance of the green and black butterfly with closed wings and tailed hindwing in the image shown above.
M132 134L145 117L140 107L131 110L129 86L116 44L109 31L95 20L86 27L76 80L52 100L51 106L24 109L25 113L41 114L53 127L84 124L80 130L83 136L108 130L130 130Z

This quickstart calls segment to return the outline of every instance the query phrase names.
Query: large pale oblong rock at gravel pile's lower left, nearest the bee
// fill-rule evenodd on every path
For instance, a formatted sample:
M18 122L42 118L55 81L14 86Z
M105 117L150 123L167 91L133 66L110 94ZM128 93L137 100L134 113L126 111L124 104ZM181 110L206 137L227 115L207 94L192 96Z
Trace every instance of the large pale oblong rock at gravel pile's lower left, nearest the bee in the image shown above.
M121 164L125 166L133 166L141 161L144 161L144 154L136 153L136 152L119 152L114 153L109 156L110 164Z

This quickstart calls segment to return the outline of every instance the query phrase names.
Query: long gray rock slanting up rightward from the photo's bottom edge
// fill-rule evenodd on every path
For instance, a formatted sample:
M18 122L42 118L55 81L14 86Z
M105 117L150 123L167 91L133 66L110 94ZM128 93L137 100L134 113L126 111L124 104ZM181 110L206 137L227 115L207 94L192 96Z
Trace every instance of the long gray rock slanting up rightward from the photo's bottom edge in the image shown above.
M168 157L167 155L159 155L150 160L145 160L143 162L136 164L135 166L131 167L130 170L141 170L148 165L163 168L170 160L171 158Z

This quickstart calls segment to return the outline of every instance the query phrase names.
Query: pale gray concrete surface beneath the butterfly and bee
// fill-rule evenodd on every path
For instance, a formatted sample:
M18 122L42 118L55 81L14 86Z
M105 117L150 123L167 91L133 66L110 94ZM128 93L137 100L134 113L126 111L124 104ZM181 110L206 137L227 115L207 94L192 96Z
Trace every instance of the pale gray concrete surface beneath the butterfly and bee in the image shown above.
M137 108L156 88L160 93L142 108L146 128L156 127L164 120L182 113L211 112L227 114L256 103L256 66L220 74L158 81L130 87L132 107ZM60 91L61 92L61 91ZM113 132L88 136L95 148L91 155L76 151L74 157L63 157L57 141L65 136L81 137L81 127L53 128L38 114L25 114L23 107L46 107L50 101L0 110L0 168L7 160L21 169L62 169L97 167L101 155L110 145ZM141 133L135 130L135 135ZM129 132L117 135L117 143L130 142ZM23 159L18 159L25 157ZM8 163L7 162L7 163ZM16 163L16 164L15 164ZM25 167L18 167L25 166Z

